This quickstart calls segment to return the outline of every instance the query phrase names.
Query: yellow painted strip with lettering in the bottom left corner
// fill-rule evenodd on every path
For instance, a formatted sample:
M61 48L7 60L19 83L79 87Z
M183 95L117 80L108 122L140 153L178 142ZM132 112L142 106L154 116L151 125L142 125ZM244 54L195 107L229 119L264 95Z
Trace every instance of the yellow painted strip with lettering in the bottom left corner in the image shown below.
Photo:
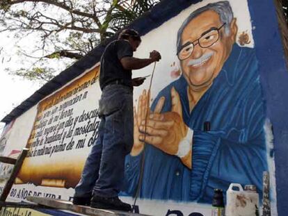
M2 208L0 216L45 216L48 214L41 213L38 210L30 208Z

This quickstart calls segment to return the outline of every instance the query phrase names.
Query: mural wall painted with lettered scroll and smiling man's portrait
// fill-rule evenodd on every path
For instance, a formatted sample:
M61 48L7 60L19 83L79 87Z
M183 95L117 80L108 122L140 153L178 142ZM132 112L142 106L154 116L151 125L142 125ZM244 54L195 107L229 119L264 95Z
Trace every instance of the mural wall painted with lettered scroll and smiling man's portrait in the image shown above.
M126 158L127 183L121 193L133 203L145 151L137 201L141 213L210 215L214 188L225 192L230 183L253 184L262 195L265 170L270 173L273 215L284 213L277 198L287 194L279 177L285 174L280 164L286 164L287 105L279 92L285 92L287 69L275 15L266 25L260 22L264 13L259 8L267 11L267 19L272 3L259 2L200 1L143 35L134 56L146 58L158 50L162 60L150 94L151 76L134 89L134 148ZM224 12L230 17L225 21L211 9L202 11L207 6L228 12L231 7L232 15ZM195 11L198 16L190 20ZM152 70L150 65L134 76ZM97 138L98 76L98 67L88 70L15 120L3 153L29 147L31 154L10 199L73 196ZM147 107L151 115L143 142Z

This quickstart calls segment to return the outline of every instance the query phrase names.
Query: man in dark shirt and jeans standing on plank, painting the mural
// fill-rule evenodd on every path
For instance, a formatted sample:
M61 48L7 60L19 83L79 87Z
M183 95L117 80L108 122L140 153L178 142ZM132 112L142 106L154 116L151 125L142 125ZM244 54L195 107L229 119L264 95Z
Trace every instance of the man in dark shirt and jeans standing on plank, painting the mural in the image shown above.
M101 58L99 138L93 145L75 188L73 203L92 208L130 211L118 198L124 178L125 156L133 146L133 86L145 78L132 79L132 70L161 59L157 51L150 58L134 58L141 44L133 29L123 30L118 40L107 45ZM91 199L92 197L92 199Z

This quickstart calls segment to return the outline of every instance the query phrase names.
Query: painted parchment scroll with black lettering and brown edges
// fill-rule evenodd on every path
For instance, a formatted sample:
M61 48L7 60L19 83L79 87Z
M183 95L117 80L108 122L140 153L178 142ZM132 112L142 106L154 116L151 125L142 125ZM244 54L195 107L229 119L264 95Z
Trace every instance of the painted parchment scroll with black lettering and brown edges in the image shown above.
M89 148L97 138L99 118L92 86L99 67L38 103L37 115L17 183L74 188ZM95 88L96 90L96 88Z

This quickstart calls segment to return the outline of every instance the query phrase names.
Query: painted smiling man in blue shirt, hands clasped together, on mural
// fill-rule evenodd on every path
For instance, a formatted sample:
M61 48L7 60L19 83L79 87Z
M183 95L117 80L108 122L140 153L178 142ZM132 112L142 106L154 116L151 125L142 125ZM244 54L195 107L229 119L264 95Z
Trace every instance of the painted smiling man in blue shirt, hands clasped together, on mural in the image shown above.
M225 191L230 183L261 192L264 102L255 50L239 47L236 35L228 1L195 10L179 28L182 76L159 92L146 123L148 92L134 112L127 194L137 188L143 151L143 198L211 203L214 188ZM210 131L203 130L205 122Z

